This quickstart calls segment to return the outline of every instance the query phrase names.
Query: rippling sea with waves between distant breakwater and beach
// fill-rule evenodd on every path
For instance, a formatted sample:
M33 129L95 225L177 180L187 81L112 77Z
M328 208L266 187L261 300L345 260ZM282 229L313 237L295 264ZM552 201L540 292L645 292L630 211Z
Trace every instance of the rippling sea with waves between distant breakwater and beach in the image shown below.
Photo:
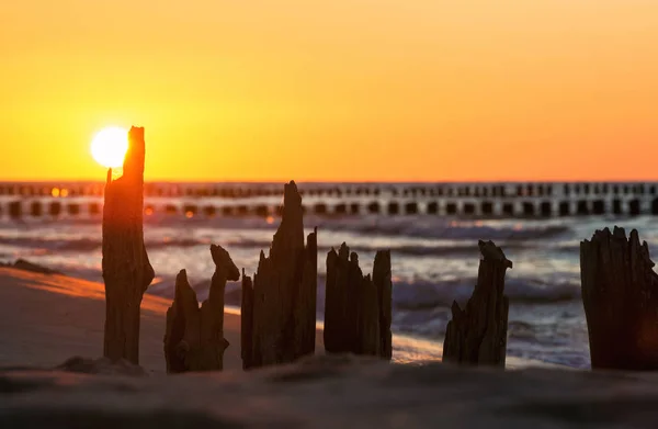
M268 197L272 204L281 203L280 195ZM362 199L366 204L372 196ZM212 197L204 203L208 201ZM161 196L158 204L182 206L185 201L180 196ZM147 293L172 298L175 274L185 269L200 298L205 298L214 270L211 244L226 248L235 263L252 274L259 253L268 251L279 222L276 215L149 213L145 216L145 242L157 276ZM443 341L453 301L464 304L473 292L480 258L478 240L494 240L513 262L506 281L510 298L508 355L577 369L590 365L580 298L580 241L589 239L595 229L616 225L627 232L636 228L651 253L658 251L658 227L649 215L506 218L308 213L304 223L307 233L318 228L319 321L327 252L345 242L359 253L366 273L372 271L375 252L389 249L393 330L427 342L431 353L432 345L440 346ZM0 261L18 258L69 275L102 281L101 215L1 216ZM239 283L228 285L226 302L239 307ZM436 350L439 353L440 347ZM411 350L407 351L413 355Z

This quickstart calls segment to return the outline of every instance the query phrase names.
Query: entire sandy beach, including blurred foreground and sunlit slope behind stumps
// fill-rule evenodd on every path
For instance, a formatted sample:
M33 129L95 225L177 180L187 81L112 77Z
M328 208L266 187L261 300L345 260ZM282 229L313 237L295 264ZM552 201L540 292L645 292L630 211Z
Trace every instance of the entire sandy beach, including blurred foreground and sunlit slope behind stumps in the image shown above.
M169 301L151 295L143 304L140 343L151 376L123 368L100 375L44 371L72 355L102 355L103 298L99 283L0 268L0 427L650 428L658 421L656 373L522 369L533 362L518 359L508 359L508 368L520 370L500 371L347 355L243 372L232 312L225 320L232 345L227 371L167 376ZM396 345L406 350L394 351L397 362L440 352L431 341L395 336Z

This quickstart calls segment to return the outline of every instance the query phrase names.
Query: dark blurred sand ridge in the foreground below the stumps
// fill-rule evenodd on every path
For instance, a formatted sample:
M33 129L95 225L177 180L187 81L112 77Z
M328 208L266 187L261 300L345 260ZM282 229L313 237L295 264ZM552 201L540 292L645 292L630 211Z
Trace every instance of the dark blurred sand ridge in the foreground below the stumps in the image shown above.
M0 428L656 428L657 405L656 373L344 355L173 376L0 369Z

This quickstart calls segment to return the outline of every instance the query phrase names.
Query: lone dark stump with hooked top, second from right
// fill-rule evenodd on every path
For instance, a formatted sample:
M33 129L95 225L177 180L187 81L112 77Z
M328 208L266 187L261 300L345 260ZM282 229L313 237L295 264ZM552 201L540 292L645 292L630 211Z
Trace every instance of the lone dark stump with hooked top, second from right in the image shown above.
M512 268L502 250L492 241L479 241L483 259L477 284L466 304L452 305L443 342L443 361L470 365L504 368L509 300L504 292L504 272Z

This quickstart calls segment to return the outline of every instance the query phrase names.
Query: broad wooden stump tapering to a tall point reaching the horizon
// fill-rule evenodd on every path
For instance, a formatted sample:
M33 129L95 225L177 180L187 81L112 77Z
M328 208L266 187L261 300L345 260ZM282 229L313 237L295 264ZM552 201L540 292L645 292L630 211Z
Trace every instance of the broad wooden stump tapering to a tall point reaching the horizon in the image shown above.
M253 282L242 279L245 369L288 363L315 352L317 272L317 229L305 247L302 196L290 182L270 256L261 251Z

